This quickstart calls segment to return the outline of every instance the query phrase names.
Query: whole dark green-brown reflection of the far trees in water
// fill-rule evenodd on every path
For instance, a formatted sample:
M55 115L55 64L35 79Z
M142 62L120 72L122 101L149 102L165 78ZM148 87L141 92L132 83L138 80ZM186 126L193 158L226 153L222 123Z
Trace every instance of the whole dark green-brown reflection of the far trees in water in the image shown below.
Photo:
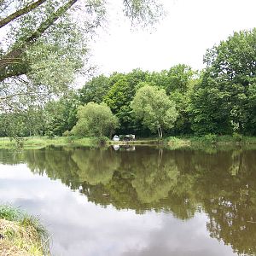
M210 236L231 244L238 253L256 253L253 150L114 152L51 147L25 151L22 158L32 172L61 179L102 206L136 212L154 209L181 219L203 210Z

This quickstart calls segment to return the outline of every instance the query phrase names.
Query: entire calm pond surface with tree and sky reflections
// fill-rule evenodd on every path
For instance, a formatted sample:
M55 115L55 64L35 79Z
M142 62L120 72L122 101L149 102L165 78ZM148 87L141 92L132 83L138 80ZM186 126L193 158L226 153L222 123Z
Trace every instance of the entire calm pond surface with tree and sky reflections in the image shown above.
M0 149L0 199L56 256L256 255L253 149Z

